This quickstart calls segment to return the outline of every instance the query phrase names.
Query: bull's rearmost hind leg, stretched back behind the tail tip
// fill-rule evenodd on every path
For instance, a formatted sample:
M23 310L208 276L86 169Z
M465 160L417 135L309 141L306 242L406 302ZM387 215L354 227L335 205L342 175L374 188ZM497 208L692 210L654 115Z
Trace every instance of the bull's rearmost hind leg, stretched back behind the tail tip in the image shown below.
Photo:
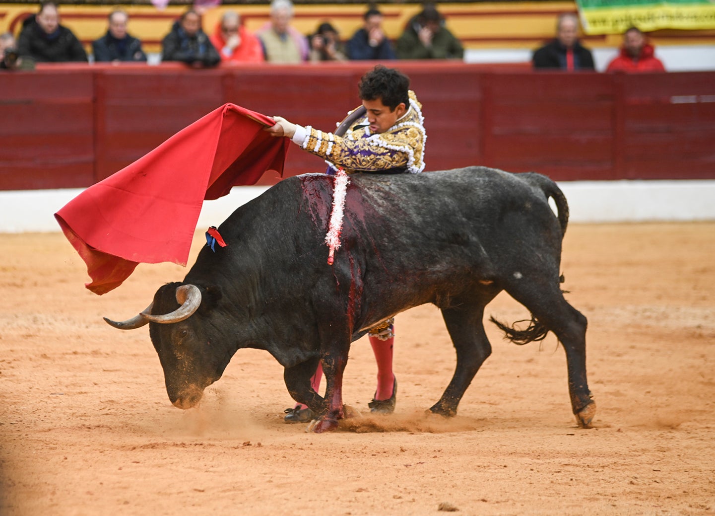
M563 298L556 282L529 283L528 275L524 274L506 291L561 341L566 351L571 408L579 426L590 428L596 403L586 381L586 317Z

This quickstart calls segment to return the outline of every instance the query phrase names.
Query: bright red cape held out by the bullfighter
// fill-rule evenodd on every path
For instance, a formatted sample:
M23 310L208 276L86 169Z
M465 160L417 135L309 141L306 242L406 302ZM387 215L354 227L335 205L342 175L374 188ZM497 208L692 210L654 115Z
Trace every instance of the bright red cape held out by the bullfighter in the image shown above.
M119 172L87 188L55 218L87 263L90 291L117 288L139 263L185 266L204 199L283 172L290 140L275 122L224 104Z

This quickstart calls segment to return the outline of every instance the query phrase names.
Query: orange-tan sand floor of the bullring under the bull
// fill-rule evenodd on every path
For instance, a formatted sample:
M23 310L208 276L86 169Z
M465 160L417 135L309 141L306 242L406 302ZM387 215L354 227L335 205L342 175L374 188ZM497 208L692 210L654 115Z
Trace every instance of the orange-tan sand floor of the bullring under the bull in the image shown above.
M196 239L191 263L202 245ZM593 429L576 428L553 336L493 354L457 417L424 410L454 351L433 306L398 316L392 417L306 434L267 353L239 351L201 406L169 404L129 318L178 266L139 266L98 297L59 233L0 235L2 515L711 515L715 513L715 223L572 224L562 270L589 320ZM487 315L527 313L499 296ZM375 364L353 344L345 402Z

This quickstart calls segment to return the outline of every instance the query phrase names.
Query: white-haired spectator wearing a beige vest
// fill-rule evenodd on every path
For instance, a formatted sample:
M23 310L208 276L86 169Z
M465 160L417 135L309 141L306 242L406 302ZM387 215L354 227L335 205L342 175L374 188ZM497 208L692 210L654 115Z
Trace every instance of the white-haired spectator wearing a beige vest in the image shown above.
M270 21L260 31L266 61L272 63L300 63L308 58L308 40L290 26L293 4L290 0L273 0L270 4Z

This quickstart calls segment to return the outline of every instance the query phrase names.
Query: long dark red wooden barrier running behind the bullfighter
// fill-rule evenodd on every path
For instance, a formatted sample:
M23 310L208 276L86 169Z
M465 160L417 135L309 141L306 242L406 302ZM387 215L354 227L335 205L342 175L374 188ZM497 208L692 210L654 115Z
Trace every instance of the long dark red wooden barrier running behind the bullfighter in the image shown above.
M423 103L428 170L479 164L556 180L715 178L714 72L395 66ZM369 67L61 64L0 73L0 190L91 185L225 102L332 130L359 104ZM294 147L286 170L325 164Z

